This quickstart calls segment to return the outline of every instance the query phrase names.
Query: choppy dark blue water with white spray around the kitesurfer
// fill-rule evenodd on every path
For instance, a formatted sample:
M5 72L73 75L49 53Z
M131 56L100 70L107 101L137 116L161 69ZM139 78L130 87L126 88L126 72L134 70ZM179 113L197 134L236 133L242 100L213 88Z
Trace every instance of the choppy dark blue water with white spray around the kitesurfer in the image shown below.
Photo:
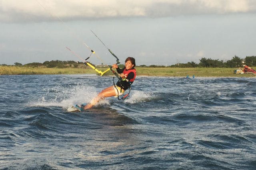
M255 170L256 79L137 77L126 100L94 75L0 76L0 169Z

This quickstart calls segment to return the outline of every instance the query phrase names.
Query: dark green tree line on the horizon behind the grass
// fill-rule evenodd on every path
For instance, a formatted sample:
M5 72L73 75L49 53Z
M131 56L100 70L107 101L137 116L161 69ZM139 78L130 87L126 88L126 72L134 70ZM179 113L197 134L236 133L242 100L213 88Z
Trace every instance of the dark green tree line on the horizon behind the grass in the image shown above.
M90 63L92 64L92 63ZM235 68L235 67L242 67L242 65L248 66L256 66L256 56L246 56L244 59L234 56L231 60L224 62L223 60L218 59L206 59L201 58L200 63L195 63L193 61L188 63L176 63L171 66L167 67L226 67L226 68ZM2 66L7 66L6 64L1 64ZM21 63L14 63L15 66L25 66L25 67L44 67L44 68L84 68L87 65L83 62L76 62L76 61L59 61L59 60L52 60L52 61L45 61L44 63L28 63L22 65ZM94 65L94 64L92 64ZM95 65L94 65L95 66ZM123 67L123 64L120 64L120 67ZM141 67L166 67L166 66L159 66L159 65L140 65Z

